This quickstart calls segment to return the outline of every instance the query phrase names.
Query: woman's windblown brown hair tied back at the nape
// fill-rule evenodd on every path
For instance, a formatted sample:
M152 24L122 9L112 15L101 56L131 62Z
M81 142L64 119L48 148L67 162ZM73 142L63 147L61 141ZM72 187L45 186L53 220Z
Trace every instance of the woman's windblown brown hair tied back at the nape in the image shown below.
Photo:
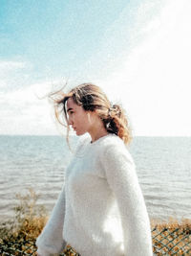
M67 141L70 127L66 103L69 98L72 98L76 105L81 105L84 110L95 111L109 133L115 133L125 144L129 144L131 141L131 129L124 109L120 105L112 105L105 93L95 84L82 83L74 87L69 93L64 93L61 89L49 94L49 98L53 100L56 120L67 128ZM65 124L61 121L63 116Z

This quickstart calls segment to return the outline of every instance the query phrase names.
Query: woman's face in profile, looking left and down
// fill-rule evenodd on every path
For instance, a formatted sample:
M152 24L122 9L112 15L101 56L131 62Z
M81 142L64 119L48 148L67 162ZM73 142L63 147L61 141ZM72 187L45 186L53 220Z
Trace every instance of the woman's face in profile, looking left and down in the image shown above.
M76 135L90 132L93 127L93 112L85 111L80 105L74 103L73 98L67 101L67 113L69 126L74 128Z

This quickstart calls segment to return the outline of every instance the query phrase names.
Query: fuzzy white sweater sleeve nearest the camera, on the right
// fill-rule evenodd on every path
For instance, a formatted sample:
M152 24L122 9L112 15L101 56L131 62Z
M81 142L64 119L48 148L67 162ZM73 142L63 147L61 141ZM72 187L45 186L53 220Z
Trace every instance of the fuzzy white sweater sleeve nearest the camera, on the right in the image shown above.
M124 255L153 255L150 221L131 154L124 145L112 145L102 157L107 182L117 198Z

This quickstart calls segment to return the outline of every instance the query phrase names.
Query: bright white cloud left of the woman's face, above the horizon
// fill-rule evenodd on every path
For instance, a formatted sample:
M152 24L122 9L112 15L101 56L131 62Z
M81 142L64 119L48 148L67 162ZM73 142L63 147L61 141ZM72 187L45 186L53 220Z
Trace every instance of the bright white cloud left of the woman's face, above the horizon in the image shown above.
M62 131L53 119L53 106L47 98L53 83L41 81L0 97L0 134L57 134ZM62 132L63 133L63 132Z

